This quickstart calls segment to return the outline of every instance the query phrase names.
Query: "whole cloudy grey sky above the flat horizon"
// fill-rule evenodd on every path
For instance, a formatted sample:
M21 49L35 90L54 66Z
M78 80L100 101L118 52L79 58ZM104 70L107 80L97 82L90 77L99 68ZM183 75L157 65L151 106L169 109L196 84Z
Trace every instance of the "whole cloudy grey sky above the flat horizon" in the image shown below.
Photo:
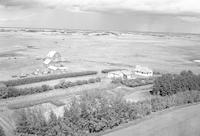
M200 33L200 0L0 0L0 26Z

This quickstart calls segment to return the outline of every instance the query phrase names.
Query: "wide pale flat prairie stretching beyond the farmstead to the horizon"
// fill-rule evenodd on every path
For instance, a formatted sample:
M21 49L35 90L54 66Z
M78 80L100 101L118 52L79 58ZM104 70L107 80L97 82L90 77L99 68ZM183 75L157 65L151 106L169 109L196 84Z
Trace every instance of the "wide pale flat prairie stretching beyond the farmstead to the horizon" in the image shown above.
M50 50L61 53L69 71L131 68L199 72L200 35L170 33L0 32L1 80L42 69Z

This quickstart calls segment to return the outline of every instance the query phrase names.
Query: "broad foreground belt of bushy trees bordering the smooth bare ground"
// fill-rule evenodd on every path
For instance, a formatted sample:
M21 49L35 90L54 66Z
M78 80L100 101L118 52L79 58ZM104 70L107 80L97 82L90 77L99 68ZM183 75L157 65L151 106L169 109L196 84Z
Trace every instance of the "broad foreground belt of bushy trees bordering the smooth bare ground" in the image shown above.
M138 103L127 102L121 96L104 91L90 91L74 99L65 108L63 117L57 117L52 112L47 120L40 110L19 111L16 132L21 136L86 136L142 118L151 112L199 101L200 91L156 96Z

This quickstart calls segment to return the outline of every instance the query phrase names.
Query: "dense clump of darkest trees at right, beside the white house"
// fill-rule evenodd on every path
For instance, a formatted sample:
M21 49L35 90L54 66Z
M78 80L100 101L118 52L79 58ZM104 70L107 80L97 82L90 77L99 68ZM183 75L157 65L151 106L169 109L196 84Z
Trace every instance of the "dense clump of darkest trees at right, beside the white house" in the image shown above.
M152 94L166 96L177 92L200 89L200 75L191 71L182 71L180 74L164 74L154 81Z

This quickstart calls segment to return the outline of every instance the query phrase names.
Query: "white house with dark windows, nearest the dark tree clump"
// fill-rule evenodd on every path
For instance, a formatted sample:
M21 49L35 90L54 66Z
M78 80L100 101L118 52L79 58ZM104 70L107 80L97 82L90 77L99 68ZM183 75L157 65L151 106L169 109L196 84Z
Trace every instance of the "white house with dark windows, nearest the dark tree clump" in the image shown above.
M148 67L136 65L135 75L144 76L144 77L151 77L151 76L153 76L153 70L151 70Z

